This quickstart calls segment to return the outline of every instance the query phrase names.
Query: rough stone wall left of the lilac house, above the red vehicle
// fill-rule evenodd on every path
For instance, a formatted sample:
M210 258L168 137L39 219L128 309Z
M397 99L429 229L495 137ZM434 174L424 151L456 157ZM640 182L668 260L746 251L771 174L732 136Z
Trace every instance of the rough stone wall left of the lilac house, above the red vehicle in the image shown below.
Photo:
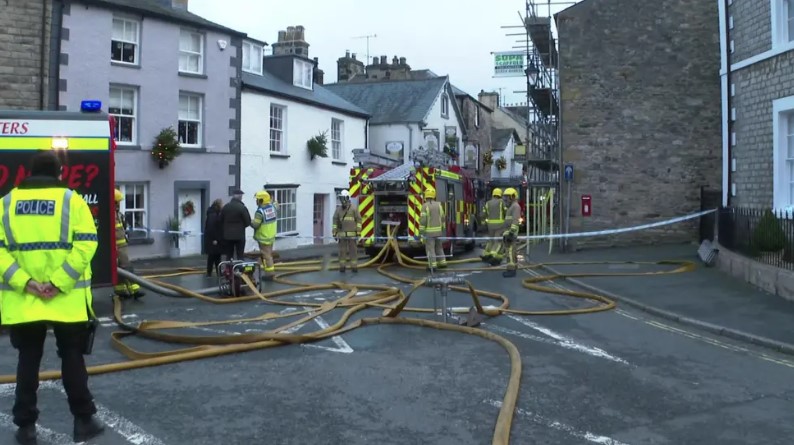
M0 109L46 109L51 106L48 89L52 2L4 0L2 3L0 6L0 85L2 85ZM42 13L47 15L43 30Z

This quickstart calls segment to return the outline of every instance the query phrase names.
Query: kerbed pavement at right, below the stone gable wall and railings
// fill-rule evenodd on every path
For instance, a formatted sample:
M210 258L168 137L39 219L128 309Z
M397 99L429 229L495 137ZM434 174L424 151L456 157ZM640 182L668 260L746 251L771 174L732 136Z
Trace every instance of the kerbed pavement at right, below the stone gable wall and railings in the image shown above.
M654 315L710 332L794 354L794 302L765 292L713 267L706 267L691 244L581 250L548 254L533 248L531 262L552 273L638 273L670 266L612 264L562 265L555 262L688 260L689 273L659 276L586 277L569 281Z

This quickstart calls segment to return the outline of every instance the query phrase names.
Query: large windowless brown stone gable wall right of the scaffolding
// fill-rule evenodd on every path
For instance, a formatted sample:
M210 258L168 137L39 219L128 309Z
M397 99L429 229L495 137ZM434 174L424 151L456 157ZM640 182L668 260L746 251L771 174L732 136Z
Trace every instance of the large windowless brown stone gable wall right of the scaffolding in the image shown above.
M753 1L753 0L747 0ZM718 5L584 0L556 16L561 147L574 165L569 232L664 221L700 211L721 185ZM583 216L582 197L592 199ZM565 202L565 199L562 200ZM573 248L697 241L698 220Z

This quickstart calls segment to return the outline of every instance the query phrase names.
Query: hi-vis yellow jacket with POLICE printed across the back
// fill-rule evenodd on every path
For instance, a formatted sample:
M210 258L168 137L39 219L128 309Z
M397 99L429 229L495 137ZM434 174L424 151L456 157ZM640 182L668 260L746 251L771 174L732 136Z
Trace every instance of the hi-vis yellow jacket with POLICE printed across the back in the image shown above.
M55 179L30 177L0 206L0 322L80 322L93 315L94 217L83 198ZM25 292L28 280L51 282L50 300Z

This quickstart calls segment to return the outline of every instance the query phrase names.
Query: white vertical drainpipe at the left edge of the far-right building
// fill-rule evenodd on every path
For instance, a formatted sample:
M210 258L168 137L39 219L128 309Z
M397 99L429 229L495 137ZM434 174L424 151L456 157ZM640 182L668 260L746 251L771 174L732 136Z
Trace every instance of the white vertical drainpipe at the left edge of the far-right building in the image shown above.
M731 83L730 65L730 30L728 29L728 5L726 0L717 0L720 22L720 90L722 95L722 205L728 206L731 202L731 145L730 145L730 112L731 97L729 93Z

